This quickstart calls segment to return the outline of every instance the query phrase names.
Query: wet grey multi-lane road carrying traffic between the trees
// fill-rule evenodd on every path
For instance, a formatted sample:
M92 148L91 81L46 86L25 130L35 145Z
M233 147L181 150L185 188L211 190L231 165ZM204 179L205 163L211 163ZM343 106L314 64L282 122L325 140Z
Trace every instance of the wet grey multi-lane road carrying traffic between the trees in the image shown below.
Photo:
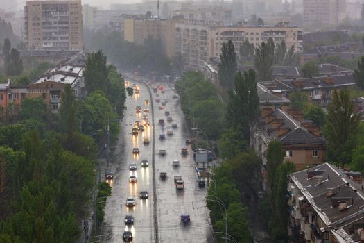
M131 85L132 83L130 83ZM121 123L119 144L116 148L114 160L110 162L110 170L114 172L112 195L107 199L105 208L105 224L103 226L104 242L123 242L123 232L132 231L133 242L210 242L211 230L209 227L208 210L205 207L207 188L200 189L194 170L193 153L189 147L189 155L183 157L181 149L187 147L185 140L189 138L187 126L184 123L179 101L172 99L173 91L166 87L165 94L153 93L153 98L144 85L139 84L140 93L128 98L125 106L125 116ZM160 103L156 99L167 100L163 110L159 110ZM153 100L154 118L152 109L146 115L149 117L150 126L137 136L132 135L132 126L135 121L142 121L144 115L144 100ZM141 114L135 112L135 107L141 106ZM149 106L150 107L150 106ZM173 118L172 122L166 121L165 111L168 110ZM158 124L159 119L164 119L164 128ZM153 126L155 124L155 196L153 201ZM171 124L177 123L177 128ZM173 135L167 135L167 131ZM159 140L159 134L166 135L165 140ZM150 144L143 144L144 137L150 138ZM139 155L132 154L133 148L139 148ZM159 149L166 150L166 156L159 156ZM141 160L148 160L149 167L142 168ZM173 168L172 161L180 160L180 167ZM137 163L137 171L129 171L130 162ZM165 181L159 178L160 172L166 172ZM130 175L137 176L137 183L129 183ZM176 190L173 175L180 174L184 180L184 190ZM139 192L147 190L149 199L139 199ZM134 196L136 206L126 208L127 196ZM155 207L155 210L153 210ZM184 225L180 221L182 212L187 212L191 217L190 224ZM125 226L125 215L134 216L134 225ZM157 215L157 222L155 216ZM157 230L157 234L155 234Z

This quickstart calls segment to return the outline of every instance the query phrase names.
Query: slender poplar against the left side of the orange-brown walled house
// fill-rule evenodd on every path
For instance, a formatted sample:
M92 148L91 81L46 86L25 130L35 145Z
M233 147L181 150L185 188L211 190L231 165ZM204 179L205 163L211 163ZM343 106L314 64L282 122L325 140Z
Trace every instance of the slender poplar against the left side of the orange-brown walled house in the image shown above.
M276 170L283 162L283 149L281 146L281 141L272 140L268 144L267 150L267 178L268 185L270 187L271 193L274 193L273 190L276 180Z

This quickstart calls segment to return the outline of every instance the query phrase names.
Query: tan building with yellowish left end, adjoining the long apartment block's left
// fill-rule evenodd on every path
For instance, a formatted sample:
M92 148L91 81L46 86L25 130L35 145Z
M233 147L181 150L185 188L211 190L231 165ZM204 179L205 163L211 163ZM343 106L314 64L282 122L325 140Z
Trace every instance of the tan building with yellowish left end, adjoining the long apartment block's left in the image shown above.
M173 58L175 55L175 19L124 19L124 40L144 45L148 36L154 40L160 39L166 55Z

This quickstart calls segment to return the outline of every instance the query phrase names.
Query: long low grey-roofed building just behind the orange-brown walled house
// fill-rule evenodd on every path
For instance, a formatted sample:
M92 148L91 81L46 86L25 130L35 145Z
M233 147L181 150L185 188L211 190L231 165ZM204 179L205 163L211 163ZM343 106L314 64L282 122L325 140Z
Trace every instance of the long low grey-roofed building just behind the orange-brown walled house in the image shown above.
M275 79L261 84L279 97L289 97L293 91L306 92L309 101L321 107L327 107L333 90L356 86L354 76L348 73L313 78Z

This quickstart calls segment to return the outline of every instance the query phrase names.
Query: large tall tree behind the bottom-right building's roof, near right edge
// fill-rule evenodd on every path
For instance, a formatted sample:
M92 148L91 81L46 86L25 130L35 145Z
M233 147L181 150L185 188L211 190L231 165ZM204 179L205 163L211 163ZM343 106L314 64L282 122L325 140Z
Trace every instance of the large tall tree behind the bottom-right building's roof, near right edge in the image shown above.
M354 149L354 136L358 130L361 115L356 112L348 90L333 90L332 100L327 106L325 133L329 143L329 158L333 161L349 162Z

